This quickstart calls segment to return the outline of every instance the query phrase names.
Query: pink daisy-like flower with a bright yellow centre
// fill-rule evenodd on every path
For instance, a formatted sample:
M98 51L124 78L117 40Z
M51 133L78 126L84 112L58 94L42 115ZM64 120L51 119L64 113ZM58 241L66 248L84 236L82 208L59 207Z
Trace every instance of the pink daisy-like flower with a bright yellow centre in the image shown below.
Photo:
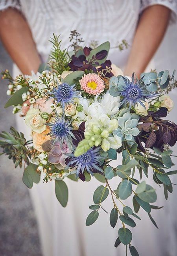
M97 74L90 73L84 74L84 76L79 81L81 89L86 93L97 95L104 91L105 84L103 79L100 78Z

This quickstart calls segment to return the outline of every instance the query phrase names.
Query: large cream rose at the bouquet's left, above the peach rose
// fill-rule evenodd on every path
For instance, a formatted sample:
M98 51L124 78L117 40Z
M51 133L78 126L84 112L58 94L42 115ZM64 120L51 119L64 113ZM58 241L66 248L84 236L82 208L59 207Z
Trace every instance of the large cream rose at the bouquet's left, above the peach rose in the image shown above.
M37 132L41 134L46 129L46 125L44 124L44 120L40 116L41 112L39 109L31 108L26 113L25 122L33 132Z

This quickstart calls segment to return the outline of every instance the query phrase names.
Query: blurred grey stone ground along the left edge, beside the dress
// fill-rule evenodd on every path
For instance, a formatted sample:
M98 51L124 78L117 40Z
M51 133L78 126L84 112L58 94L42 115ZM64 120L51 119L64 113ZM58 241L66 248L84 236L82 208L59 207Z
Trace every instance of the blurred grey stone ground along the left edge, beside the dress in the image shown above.
M0 70L12 70L12 61L0 43ZM8 100L7 81L0 79L0 131L15 126ZM41 248L28 188L22 183L22 170L0 156L0 256L41 256Z

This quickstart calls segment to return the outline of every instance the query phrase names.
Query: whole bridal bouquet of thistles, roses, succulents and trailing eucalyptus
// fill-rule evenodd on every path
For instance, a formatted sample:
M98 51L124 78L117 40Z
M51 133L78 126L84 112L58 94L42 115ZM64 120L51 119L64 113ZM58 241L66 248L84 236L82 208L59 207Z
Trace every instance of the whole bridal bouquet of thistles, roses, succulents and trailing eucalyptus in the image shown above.
M24 184L31 188L41 173L44 182L55 182L56 197L63 207L68 201L65 180L70 178L89 182L96 178L102 185L94 191L93 205L86 225L93 224L102 202L112 200L110 224L122 224L115 247L129 246L131 255L138 255L131 245L138 210L143 208L157 227L151 210L161 207L155 189L148 184L148 174L164 188L164 196L172 193L169 171L173 163L170 147L177 141L177 125L164 119L173 108L168 94L177 87L168 70L133 73L126 77L107 60L110 43L82 48L76 31L72 31L72 51L62 50L59 37L53 35L53 48L48 64L31 76L19 75L14 80L8 70L2 78L9 80L7 95L11 98L5 108L14 106L31 130L31 140L11 127L2 132L2 154L12 159L15 167L24 162ZM123 44L126 46L125 41ZM45 66L45 67L44 67ZM112 160L122 164L112 167ZM134 178L139 173L140 179ZM109 181L118 176L119 183ZM146 176L146 181L142 180ZM53 181L54 180L54 181ZM133 209L124 200L133 195ZM105 210L106 211L106 210ZM107 211L106 211L107 212Z

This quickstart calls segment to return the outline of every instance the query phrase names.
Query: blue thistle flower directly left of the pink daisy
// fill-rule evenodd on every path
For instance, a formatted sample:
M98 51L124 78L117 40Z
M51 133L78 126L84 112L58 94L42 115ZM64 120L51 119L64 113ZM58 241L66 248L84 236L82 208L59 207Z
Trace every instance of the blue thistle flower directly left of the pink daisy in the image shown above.
M54 88L50 94L56 99L57 104L60 103L64 109L65 104L73 103L73 98L77 97L77 91L75 90L75 84L69 85L65 82L57 84L58 87Z

